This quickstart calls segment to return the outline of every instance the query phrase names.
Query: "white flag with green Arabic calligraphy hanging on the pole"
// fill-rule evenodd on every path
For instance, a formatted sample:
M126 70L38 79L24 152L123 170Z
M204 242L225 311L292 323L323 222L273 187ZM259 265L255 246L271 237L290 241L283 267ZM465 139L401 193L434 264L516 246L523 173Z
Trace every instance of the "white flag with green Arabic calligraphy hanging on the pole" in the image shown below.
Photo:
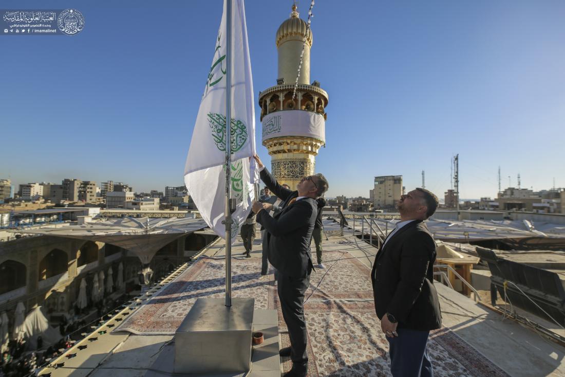
M247 44L243 0L232 6L232 119L231 119L231 191L236 198L233 213L232 243L249 214L254 200L250 182L249 157L255 154L255 109L253 80ZM206 80L204 95L185 165L185 184L194 204L208 226L225 239L225 100L226 100L226 0L221 18L214 59Z

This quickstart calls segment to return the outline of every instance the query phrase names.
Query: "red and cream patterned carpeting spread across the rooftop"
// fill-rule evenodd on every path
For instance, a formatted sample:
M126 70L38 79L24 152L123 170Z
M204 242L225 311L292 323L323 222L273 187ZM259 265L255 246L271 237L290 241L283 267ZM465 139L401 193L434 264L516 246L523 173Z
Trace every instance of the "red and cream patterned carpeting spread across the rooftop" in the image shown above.
M232 260L232 297L253 297L257 309L276 309L281 346L288 346L273 275L260 279L260 263ZM347 252L324 252L324 264L312 273L305 294L308 375L389 376L388 341L375 314L370 269ZM172 335L197 298L224 297L224 273L223 259L199 259L115 331ZM436 376L507 376L447 328L431 333L428 354ZM292 363L282 361L288 371Z

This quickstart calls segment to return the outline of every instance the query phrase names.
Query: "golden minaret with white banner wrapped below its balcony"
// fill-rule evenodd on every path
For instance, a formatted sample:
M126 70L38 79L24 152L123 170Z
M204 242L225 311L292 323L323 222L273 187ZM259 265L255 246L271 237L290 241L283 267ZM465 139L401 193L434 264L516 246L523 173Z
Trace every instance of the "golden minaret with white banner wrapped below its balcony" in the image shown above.
M259 92L262 140L271 155L273 176L295 190L302 177L314 174L316 155L325 145L328 93L320 88L320 83L310 84L312 32L299 18L295 5L290 18L277 30L275 43L279 54L277 85Z

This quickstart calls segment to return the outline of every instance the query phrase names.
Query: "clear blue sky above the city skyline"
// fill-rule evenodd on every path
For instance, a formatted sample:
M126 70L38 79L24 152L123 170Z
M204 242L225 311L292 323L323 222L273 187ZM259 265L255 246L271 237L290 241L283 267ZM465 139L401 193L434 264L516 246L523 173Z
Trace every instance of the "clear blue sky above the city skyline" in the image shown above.
M276 84L275 32L292 1L245 6L257 98ZM75 7L85 28L0 36L0 178L183 184L221 0L1 7ZM442 196L454 153L462 198L496 196L499 165L503 187L518 173L522 187L565 186L564 20L559 0L317 1L310 77L329 93L316 158L328 196L368 196L388 174L410 190L421 170Z

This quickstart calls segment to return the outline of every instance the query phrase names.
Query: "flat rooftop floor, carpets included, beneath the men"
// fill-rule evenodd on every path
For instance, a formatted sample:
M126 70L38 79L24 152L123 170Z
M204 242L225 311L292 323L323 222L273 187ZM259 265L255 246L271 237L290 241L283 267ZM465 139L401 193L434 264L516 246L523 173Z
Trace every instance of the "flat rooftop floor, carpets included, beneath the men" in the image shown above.
M326 268L312 273L306 292L310 375L390 375L388 342L375 315L369 277L376 249L351 230L340 236L330 228L323 242ZM253 258L245 259L241 239L236 240L233 297L254 297L256 310L279 312L278 342L285 346L288 335L273 276L259 275L259 241L253 246ZM173 272L151 290L148 299L126 307L102 325L112 324L114 331L108 328L107 333L86 337L82 342L88 348L69 350L67 354L74 353L74 357L63 355L53 362L64 362L64 366L42 373L51 372L53 377L172 375L157 361L170 352L176 323L184 319L195 299L223 297L224 252L221 240L208 247L195 263ZM432 332L429 342L436 375L565 376L564 348L444 285L437 283L436 288L444 322L444 328ZM97 339L88 340L93 337ZM252 372L261 368L256 361ZM288 368L289 362L282 360L281 369Z

